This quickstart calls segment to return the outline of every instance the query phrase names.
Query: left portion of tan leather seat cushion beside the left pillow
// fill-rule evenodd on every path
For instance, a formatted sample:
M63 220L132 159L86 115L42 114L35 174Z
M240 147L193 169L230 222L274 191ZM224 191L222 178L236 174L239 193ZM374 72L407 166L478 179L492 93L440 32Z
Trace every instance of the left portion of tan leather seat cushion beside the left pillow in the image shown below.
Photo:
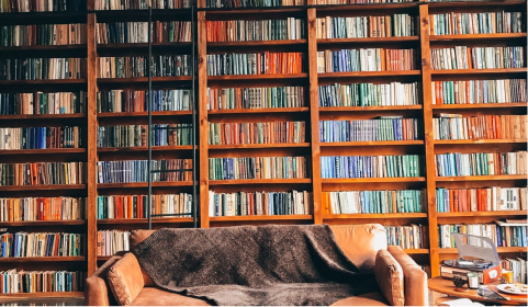
M199 298L167 292L157 287L144 287L132 302L133 306L212 306Z

